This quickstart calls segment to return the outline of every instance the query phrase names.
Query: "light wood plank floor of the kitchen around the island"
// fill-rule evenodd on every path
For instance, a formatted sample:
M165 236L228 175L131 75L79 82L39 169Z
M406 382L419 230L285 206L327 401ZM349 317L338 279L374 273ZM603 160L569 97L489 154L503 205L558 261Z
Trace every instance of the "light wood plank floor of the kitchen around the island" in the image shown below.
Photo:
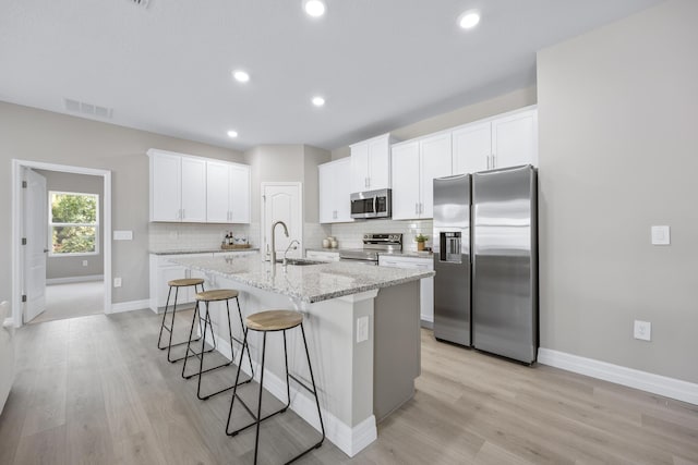
M196 400L195 380L155 347L158 325L142 310L17 331L0 464L252 463L254 433L224 433L229 395ZM293 413L277 416L262 429L260 463L284 462L315 435ZM378 425L378 440L353 460L325 442L300 463L698 464L698 406L423 330L417 393Z

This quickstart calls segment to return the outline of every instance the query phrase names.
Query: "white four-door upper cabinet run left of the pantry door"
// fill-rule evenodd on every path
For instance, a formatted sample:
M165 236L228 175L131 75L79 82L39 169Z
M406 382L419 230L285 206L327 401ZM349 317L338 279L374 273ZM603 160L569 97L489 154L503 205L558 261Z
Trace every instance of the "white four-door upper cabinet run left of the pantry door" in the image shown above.
M250 167L149 149L151 221L249 223Z

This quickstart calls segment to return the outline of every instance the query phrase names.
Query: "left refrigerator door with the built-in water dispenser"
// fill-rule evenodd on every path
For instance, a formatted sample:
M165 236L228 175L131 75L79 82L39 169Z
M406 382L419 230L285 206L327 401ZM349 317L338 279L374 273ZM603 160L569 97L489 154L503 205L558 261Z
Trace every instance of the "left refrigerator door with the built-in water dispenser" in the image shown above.
M434 336L470 345L470 175L434 180Z

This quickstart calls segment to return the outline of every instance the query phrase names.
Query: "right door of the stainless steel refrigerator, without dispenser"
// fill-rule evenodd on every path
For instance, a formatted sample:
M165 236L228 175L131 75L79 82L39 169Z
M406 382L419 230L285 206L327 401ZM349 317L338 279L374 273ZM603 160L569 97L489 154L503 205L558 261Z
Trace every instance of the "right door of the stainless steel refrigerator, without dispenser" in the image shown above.
M472 340L527 364L538 355L538 175L472 175Z

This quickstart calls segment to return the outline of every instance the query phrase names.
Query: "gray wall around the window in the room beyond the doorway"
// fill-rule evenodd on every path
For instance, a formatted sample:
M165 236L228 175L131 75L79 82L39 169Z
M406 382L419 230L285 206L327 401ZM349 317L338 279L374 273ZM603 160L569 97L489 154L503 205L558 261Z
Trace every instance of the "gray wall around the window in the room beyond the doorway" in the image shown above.
M76 192L99 196L99 254L81 257L51 257L46 260L46 278L75 278L104 274L104 178L60 171L35 170L46 178L47 191ZM50 209L51 206L49 205ZM50 242L50 237L49 237ZM83 267L83 260L87 266Z

